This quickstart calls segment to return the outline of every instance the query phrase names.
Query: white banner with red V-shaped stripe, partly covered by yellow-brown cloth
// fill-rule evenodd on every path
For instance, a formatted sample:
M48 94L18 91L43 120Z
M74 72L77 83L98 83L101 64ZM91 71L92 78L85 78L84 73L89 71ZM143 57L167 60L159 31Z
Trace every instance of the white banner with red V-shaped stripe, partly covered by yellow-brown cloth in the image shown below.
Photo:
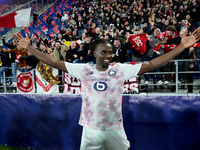
M57 84L54 84L54 85L50 84L41 76L40 72L37 69L35 69L35 71L36 71L35 78L36 78L37 93L40 93L40 94L59 93L59 87ZM58 69L53 68L52 72L53 72L53 76L58 79Z

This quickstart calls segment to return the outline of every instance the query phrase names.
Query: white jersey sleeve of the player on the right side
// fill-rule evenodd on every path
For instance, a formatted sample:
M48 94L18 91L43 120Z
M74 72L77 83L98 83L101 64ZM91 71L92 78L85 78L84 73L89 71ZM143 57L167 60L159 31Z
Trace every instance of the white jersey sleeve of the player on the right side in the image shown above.
M130 78L138 76L138 72L140 71L142 63L137 63L135 65L119 64L119 66L120 66L120 69L122 70L122 72L124 74L125 80L128 80Z

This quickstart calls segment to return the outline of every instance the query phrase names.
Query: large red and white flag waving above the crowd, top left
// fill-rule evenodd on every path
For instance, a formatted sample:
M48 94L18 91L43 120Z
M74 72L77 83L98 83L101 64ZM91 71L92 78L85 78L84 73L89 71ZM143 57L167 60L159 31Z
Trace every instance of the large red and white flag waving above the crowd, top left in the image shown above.
M27 27L30 24L31 8L18 10L0 17L0 27Z

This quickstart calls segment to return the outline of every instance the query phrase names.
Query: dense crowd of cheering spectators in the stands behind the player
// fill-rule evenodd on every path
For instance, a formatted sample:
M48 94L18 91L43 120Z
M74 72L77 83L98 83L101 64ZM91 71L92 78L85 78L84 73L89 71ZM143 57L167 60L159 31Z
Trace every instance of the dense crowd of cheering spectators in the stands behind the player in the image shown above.
M98 38L107 39L113 44L112 62L149 61L172 49L164 47L158 50L158 45L177 45L185 32L191 34L199 27L199 4L200 2L197 0L102 0L92 2L79 0L72 4L69 12L60 10L57 14L58 25L61 27L59 34L49 32L53 27L53 18L48 15L46 21L48 29L43 30L41 35L37 33L28 33L28 35L31 44L38 50L71 63L95 64L90 46ZM38 14L34 12L33 26L37 26L37 17ZM132 34L143 33L146 34L148 41L143 43L147 45L147 50L141 54L135 50L135 47L130 46L129 37ZM10 64L14 71L16 71L16 64L21 71L35 68L36 64L26 59L31 54L28 54L26 50L21 50L14 41L9 45L5 42L5 37L2 39L3 44L10 50L0 52L1 77L2 71ZM70 45L67 44L69 41ZM175 59L198 58L197 51L198 47L191 47ZM8 59L7 53L13 54L13 57ZM10 63L4 63L2 57L10 60ZM31 60L36 60L33 56L31 58ZM5 68L3 69L3 67ZM156 71L170 72L174 70L174 63L171 62ZM188 70L194 70L194 62L183 61L179 64L179 71ZM16 73L12 72L12 75L15 83ZM173 78L170 75L144 75L140 77L140 82L147 85L149 79L155 77L157 84L167 85ZM193 80L190 75L180 74L179 82L192 83ZM3 83L2 80L1 83ZM192 86L189 86L188 92L192 92Z

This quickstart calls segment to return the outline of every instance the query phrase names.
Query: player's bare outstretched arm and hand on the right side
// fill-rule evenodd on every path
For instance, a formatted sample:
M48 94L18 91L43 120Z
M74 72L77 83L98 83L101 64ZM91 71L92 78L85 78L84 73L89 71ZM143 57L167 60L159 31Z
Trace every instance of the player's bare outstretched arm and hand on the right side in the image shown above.
M157 57L150 62L143 63L142 67L138 73L138 75L141 75L145 72L153 71L165 63L169 62L172 60L174 57L176 57L178 54L183 52L186 48L191 47L193 44L195 44L198 40L200 40L200 27L196 29L190 36L186 37L186 33L184 33L181 43L179 44L178 47L173 49L172 51Z

